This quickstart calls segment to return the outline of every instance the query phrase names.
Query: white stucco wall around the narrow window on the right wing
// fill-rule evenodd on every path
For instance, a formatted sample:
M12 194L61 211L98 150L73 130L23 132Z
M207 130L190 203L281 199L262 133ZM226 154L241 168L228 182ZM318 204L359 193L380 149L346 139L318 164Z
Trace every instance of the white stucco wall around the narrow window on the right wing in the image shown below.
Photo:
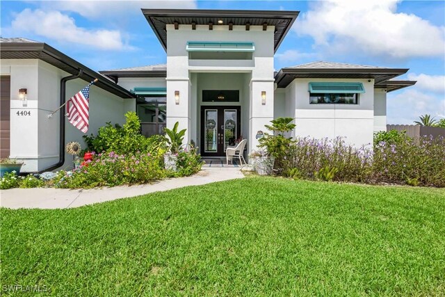
M361 82L365 93L359 104L309 104L308 83L313 81ZM296 79L286 90L289 111L295 111L295 136L313 138L344 137L357 147L373 143L374 81L368 79ZM295 109L292 109L295 102Z

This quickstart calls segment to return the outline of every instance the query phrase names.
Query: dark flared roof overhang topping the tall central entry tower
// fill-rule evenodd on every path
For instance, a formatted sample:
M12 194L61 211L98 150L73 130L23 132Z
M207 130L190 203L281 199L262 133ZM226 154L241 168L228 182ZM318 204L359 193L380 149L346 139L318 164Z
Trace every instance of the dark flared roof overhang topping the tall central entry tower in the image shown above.
M232 26L275 26L274 49L277 51L299 11L282 10L201 10L201 9L142 9L162 47L167 49L167 24L218 26L218 20Z

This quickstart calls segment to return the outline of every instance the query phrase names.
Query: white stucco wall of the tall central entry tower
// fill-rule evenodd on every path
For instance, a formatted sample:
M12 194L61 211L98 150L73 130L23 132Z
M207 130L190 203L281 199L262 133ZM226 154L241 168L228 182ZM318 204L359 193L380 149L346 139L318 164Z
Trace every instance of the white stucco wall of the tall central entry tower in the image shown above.
M181 129L188 129L185 141L191 139L199 141L199 121L195 122L193 111L195 97L193 73L199 73L202 76L213 78L215 89L224 89L224 80L218 80L218 77L211 76L210 73L246 73L249 80L244 81L243 97L249 98L248 102L241 102L241 113L243 114L242 134L248 138L248 147L255 147L257 140L254 138L256 131L264 129L264 124L273 119L273 36L275 27L268 26L267 31L263 31L262 26L250 26L250 31L245 31L245 26L234 26L233 31L229 31L228 26L209 26L198 25L196 30L192 30L191 25L179 25L175 30L173 25L167 25L167 126L172 127L175 122L179 122ZM208 60L208 59L189 59L186 45L188 41L220 41L220 42L254 42L255 51L251 59L247 60ZM227 77L230 77L227 76ZM236 82L238 85L238 82ZM246 88L248 86L248 88ZM200 101L200 79L197 79L196 98ZM234 87L228 90L236 90ZM181 99L179 104L175 104L175 90L179 90ZM250 90L254 95L250 95ZM261 104L261 91L266 90L268 100L266 105ZM247 92L246 91L246 92ZM241 91L240 91L241 96ZM244 106L245 104L245 106ZM244 122L246 115L248 123ZM200 115L197 115L199 117ZM248 125L246 125L248 124ZM193 130L196 131L196 139Z

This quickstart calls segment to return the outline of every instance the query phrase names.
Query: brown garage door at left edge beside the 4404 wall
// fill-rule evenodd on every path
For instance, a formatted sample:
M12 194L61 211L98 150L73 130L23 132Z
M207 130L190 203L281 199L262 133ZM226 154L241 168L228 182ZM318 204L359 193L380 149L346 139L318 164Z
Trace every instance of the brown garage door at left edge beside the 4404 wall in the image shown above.
M0 158L10 154L10 77L0 77Z

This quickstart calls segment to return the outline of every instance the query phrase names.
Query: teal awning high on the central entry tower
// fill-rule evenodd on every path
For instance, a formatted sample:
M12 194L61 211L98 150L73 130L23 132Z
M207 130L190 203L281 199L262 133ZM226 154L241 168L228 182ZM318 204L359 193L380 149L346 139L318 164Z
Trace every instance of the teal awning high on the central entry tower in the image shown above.
M254 42L188 41L187 51L255 51Z

